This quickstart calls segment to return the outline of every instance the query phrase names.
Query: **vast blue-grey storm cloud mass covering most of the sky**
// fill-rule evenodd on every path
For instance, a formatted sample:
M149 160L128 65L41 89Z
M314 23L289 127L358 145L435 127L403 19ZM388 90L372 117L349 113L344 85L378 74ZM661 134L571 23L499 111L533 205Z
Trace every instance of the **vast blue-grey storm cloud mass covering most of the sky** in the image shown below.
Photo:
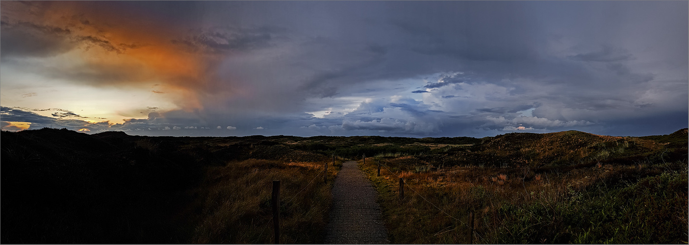
M203 60L212 82L194 90L203 109L115 126L123 129L489 136L519 127L623 134L687 123L684 1L91 4L185 30L165 39L179 53L218 54ZM63 52L79 39L70 26L23 24L20 31L8 23L2 48L19 50L10 55ZM85 37L115 53L146 45ZM130 69L39 72L115 84L136 80Z

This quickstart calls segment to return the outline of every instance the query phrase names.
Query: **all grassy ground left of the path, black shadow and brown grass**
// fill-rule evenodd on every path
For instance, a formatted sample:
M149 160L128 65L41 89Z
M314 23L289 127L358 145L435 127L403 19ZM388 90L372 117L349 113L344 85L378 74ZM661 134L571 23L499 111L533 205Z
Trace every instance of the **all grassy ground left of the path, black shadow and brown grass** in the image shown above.
M3 244L273 243L272 180L281 182L280 242L318 244L342 162L324 184L327 156L232 138L66 129L1 138ZM241 159L251 156L271 160Z

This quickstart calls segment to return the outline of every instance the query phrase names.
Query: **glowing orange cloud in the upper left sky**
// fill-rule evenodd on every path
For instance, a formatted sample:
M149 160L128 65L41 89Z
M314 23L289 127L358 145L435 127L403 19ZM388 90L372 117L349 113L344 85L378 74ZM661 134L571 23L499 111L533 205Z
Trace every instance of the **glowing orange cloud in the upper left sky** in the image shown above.
M65 70L78 70L85 83L101 86L149 87L168 96L185 110L202 109L198 94L212 82L216 54L189 52L174 40L190 34L188 27L172 26L143 14L119 12L107 4L88 2L3 2L3 25L30 25L40 32L61 36L74 45L78 61ZM4 19L3 19L4 20ZM71 66L70 66L71 65ZM76 76L76 75L75 75ZM77 79L74 79L77 80ZM163 95L163 93L165 93Z

